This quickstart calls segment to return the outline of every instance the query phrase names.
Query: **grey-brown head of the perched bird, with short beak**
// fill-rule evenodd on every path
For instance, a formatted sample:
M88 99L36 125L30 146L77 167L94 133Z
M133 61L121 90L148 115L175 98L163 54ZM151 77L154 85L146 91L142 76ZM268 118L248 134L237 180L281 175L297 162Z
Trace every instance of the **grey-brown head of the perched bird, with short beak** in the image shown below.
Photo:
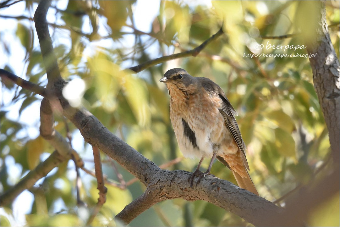
M160 82L166 83L168 88L188 89L195 84L195 78L190 76L187 71L181 68L168 70ZM191 87L191 86L190 86Z

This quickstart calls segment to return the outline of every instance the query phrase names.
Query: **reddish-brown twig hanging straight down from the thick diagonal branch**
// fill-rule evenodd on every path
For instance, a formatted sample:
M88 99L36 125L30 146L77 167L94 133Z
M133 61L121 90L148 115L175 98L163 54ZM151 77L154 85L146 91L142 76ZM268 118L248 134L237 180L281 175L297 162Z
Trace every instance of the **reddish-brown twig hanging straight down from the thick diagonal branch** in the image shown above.
M107 193L107 188L104 186L103 169L102 169L102 164L100 161L99 149L96 146L92 146L92 150L93 150L93 157L95 161L96 178L97 178L97 183L98 183L97 189L99 190L99 198L98 198L97 205L94 208L94 211L92 212L91 216L89 217L86 223L86 226L89 226L95 219L100 208L103 206L103 204L106 201L106 193Z

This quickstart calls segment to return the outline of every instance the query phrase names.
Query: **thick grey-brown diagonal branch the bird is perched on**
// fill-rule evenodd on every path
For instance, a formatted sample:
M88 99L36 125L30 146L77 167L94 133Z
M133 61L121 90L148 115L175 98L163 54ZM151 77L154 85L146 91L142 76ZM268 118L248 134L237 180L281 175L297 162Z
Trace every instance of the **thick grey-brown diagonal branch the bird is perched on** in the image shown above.
M67 108L69 110L69 108ZM64 113L80 129L86 142L98 146L109 157L136 176L147 187L157 185L155 198L183 198L188 201L205 200L229 210L255 225L270 225L263 216L277 215L282 210L264 198L240 189L228 181L207 176L198 188L190 188L186 171L166 171L142 156L105 128L99 120L85 109ZM157 202L154 200L152 202ZM152 203L151 202L151 203ZM148 206L146 206L148 207ZM139 213L144 210L139 210ZM123 212L125 213L125 212ZM129 218L120 218L128 220ZM276 223L278 225L278 223Z

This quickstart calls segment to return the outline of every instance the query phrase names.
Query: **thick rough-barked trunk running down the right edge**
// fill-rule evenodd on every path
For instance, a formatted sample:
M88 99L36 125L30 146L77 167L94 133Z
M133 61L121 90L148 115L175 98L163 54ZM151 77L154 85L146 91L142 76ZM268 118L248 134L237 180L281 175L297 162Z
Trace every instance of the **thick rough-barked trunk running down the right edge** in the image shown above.
M300 4L301 7L310 6L307 5L306 2L301 2ZM314 7L318 12L304 15L300 29L308 53L315 54L313 58L309 58L313 71L314 87L318 94L321 110L326 121L333 159L339 170L339 59L337 58L328 32L325 2L317 1L313 2L313 4L316 4ZM313 24L315 23L315 27L303 26L311 22Z

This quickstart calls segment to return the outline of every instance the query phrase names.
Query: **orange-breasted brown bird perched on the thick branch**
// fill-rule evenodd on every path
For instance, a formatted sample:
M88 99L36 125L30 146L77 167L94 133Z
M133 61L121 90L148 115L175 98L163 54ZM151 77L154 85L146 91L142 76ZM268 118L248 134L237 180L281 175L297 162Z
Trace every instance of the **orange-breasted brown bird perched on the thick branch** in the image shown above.
M222 88L208 78L192 77L182 68L166 71L159 81L169 90L170 119L183 156L200 158L189 178L190 186L195 177L199 177L198 184L210 174L216 158L232 171L240 188L259 195L248 172L237 112ZM202 173L200 167L206 157L211 161Z

